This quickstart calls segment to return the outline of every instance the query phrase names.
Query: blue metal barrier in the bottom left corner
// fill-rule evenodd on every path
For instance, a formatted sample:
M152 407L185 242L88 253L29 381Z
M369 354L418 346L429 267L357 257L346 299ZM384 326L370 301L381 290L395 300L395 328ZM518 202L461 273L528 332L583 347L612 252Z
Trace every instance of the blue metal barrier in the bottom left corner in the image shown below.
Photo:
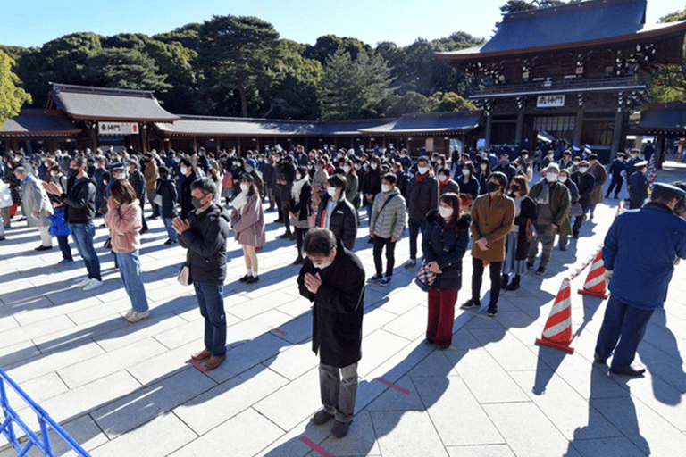
M29 404L31 409L36 413L38 416L38 425L40 426L40 436L38 436L31 428L29 428L28 425L26 425L26 422L21 420L19 415L17 414L16 411L13 410L13 408L10 406L10 404L7 401L7 392L5 390L5 382L7 385L11 386L13 390L21 396L21 398ZM90 454L87 453L76 441L74 441L74 438L69 436L67 432L63 430L62 427L60 427L57 422L55 422L50 416L47 415L47 412L38 406L31 398L29 395L26 395L26 392L21 390L20 386L17 386L17 384L7 376L7 374L3 371L0 370L0 405L3 407L3 422L0 424L0 432L7 438L7 441L13 445L14 449L19 452L17 454L17 457L23 457L26 455L26 453L29 452L29 449L32 447L36 446L38 450L43 453L43 455L46 455L46 457L56 457L55 453L53 452L53 445L50 443L50 434L48 433L48 427L52 428L54 433L62 438L63 442L66 443L67 445L70 445L71 449L73 449L79 456L81 457L90 457ZM21 430L26 433L27 436L27 442L25 445L21 445L19 442L18 437L14 433L14 425L19 426Z

